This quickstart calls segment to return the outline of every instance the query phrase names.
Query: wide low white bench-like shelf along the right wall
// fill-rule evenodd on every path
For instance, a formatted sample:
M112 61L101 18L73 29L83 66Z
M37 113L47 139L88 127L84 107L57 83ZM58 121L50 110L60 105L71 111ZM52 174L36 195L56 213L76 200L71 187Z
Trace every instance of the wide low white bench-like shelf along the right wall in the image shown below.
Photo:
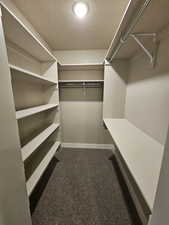
M104 122L152 210L164 146L126 119L104 119Z

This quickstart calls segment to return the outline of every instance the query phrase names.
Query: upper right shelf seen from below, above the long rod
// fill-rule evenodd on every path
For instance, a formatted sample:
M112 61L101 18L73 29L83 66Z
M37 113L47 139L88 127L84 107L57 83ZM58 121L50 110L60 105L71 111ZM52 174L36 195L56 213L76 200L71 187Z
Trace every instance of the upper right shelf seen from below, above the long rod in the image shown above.
M145 4L147 3L147 7L145 7L138 22L135 22L136 15L141 8L140 4L144 2ZM169 23L168 10L168 0L131 0L110 45L106 59L109 60L116 49L118 49L117 46L120 45L121 38L126 39L126 41L121 45L114 59L130 59L138 53L140 47L134 39L128 35L130 27L133 28L131 29L131 33L157 33L157 39L160 39L161 32L167 28ZM146 46L152 47L147 38L144 39L144 43Z

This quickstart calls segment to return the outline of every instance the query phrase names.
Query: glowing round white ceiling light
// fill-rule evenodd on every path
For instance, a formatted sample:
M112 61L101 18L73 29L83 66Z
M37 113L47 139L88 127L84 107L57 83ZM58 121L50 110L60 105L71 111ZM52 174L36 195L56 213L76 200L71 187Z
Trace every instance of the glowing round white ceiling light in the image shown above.
M88 11L89 11L89 7L84 2L76 2L73 6L74 14L80 19L84 18L86 14L88 13Z

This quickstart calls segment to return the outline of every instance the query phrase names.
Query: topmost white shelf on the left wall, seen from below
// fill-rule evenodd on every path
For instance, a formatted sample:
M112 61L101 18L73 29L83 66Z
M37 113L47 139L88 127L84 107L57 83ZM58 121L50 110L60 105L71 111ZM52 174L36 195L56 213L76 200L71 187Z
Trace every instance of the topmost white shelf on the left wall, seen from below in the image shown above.
M9 9L2 8L2 20L7 41L15 44L40 62L56 61L43 43Z

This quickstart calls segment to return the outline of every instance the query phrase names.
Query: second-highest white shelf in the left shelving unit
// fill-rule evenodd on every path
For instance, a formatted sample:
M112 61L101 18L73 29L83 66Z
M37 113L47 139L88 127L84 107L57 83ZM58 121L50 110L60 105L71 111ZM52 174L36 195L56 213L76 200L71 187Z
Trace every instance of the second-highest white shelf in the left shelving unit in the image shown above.
M9 64L9 67L11 70L14 70L14 71L17 71L18 73L15 74L15 76L19 76L19 78L22 78L22 79L27 79L27 80L33 80L33 81L37 81L41 84L46 84L46 85L56 85L57 82L54 82L50 79L47 79L41 75L38 75L38 74L35 74L35 73L32 73L28 70L24 70L20 67L17 67L17 66L14 66L12 64Z

